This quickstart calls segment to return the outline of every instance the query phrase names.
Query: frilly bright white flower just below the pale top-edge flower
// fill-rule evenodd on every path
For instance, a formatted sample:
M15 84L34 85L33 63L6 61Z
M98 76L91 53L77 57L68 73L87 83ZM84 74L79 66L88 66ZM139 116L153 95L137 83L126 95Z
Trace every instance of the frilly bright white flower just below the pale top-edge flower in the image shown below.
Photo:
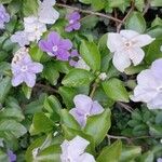
M35 16L25 17L24 27L29 41L39 41L43 32L46 31L45 24L39 22L38 17Z

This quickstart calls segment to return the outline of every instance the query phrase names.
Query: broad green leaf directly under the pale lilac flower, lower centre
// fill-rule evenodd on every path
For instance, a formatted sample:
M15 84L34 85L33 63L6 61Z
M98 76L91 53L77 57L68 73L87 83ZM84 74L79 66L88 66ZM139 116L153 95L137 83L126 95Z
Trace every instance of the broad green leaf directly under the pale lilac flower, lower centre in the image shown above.
M87 118L86 125L83 131L94 138L96 146L99 145L99 143L105 138L111 126L110 116L111 111L106 109L100 114Z

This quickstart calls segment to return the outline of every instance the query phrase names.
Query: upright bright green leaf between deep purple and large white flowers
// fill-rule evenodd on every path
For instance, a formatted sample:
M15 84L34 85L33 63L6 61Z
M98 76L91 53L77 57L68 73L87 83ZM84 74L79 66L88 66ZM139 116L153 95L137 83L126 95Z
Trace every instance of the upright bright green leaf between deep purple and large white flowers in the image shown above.
M100 53L95 43L82 41L80 54L93 71L98 71L100 69Z

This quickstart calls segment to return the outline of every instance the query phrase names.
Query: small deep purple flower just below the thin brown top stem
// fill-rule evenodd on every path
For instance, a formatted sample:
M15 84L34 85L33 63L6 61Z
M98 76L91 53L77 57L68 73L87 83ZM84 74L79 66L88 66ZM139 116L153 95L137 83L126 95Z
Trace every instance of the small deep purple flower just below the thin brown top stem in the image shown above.
M80 29L80 14L78 12L72 12L69 15L67 15L68 19L68 26L65 28L66 31L70 32L72 30L79 30Z

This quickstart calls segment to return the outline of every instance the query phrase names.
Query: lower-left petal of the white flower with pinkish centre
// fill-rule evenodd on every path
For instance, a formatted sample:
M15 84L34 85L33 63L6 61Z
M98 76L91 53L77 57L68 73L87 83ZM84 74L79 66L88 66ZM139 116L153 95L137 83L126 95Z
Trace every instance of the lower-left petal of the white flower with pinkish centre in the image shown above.
M123 72L125 68L131 65L131 60L126 51L116 52L113 55L112 63L114 67Z

